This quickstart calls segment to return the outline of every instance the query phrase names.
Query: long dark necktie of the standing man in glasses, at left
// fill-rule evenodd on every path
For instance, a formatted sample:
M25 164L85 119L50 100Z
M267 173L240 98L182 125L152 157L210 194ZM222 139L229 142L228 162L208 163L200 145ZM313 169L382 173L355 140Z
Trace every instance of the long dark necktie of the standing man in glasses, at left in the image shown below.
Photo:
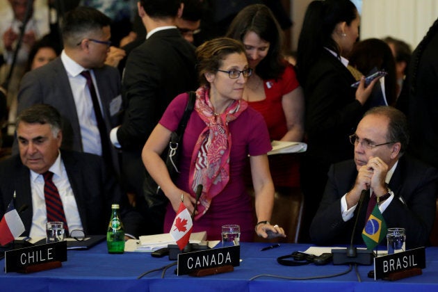
M108 166L112 166L108 132L106 131L104 117L102 116L102 111L100 110L99 99L97 99L97 93L95 90L95 86L92 83L90 71L83 71L81 72L81 75L87 80L87 86L90 90L92 108L95 111L97 129L99 129L100 142L102 143L102 156L104 157L106 163L108 163Z

